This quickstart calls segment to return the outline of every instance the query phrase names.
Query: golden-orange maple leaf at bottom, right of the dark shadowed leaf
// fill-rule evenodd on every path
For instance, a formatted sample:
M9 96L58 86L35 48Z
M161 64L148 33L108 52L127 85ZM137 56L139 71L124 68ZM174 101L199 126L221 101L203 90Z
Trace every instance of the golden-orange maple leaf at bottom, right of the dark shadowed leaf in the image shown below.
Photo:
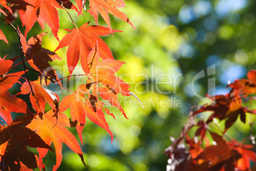
M69 132L67 128L61 125L68 123L69 118L65 114L59 113L59 121L57 122L57 118L53 117L54 115L55 113L53 110L50 110L47 113L39 113L33 118L31 123L27 125L27 128L35 130L41 139L43 139L49 146L53 143L56 153L56 165L53 166L53 170L57 170L62 161L62 142L67 144L70 149L78 154L85 165L82 149L75 136ZM48 149L38 148L40 163L43 161L43 157L45 157L47 152Z

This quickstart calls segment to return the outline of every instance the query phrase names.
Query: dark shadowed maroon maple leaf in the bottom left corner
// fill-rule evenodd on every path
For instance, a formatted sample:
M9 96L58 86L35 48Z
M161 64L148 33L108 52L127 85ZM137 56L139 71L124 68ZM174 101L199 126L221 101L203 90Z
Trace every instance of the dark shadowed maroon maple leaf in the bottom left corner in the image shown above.
M38 167L38 157L27 147L50 149L42 139L25 125L32 120L31 115L20 116L10 125L0 125L0 170L29 170Z

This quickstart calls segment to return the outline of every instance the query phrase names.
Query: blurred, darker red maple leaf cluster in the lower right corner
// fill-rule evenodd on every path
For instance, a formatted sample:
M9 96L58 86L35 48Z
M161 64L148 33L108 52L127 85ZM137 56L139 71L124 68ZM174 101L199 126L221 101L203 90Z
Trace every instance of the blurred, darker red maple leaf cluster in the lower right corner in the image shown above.
M247 74L248 79L236 79L227 85L231 88L226 95L208 97L214 102L191 110L178 139L164 152L168 157L167 170L255 170L255 137L238 142L227 134L237 120L246 123L246 117L255 115L255 109L248 109L246 102L255 100L256 71ZM198 114L210 113L206 120L197 119ZM222 130L218 121L224 121ZM248 120L247 120L248 122ZM250 121L252 127L253 121ZM214 128L215 126L215 128ZM190 130L196 130L194 134ZM194 137L191 137L192 135ZM248 140L247 140L248 141Z

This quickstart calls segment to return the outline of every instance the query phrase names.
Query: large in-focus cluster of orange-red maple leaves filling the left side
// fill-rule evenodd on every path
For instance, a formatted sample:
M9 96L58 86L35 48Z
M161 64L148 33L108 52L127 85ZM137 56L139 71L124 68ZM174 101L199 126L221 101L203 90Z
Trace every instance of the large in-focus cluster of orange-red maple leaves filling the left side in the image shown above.
M57 9L67 12L67 9L75 10L78 16L83 15L85 2L82 0L75 2L76 6L69 0L0 0L0 14L4 16L2 18L1 15L0 19L11 25L13 31L17 33L17 41L20 44L20 56L9 59L6 58L7 55L0 57L0 170L31 170L37 167L45 170L43 158L49 149L56 154L53 170L57 170L62 161L62 142L78 154L85 165L78 140L66 127L75 127L83 143L82 130L88 118L110 133L113 139L105 114L113 118L115 116L104 107L103 100L117 107L127 118L118 102L118 93L122 95L132 93L129 92L129 85L115 76L124 62L115 60L108 45L99 38L121 32L111 29L108 13L133 27L129 18L118 10L125 7L124 1L89 0L88 12L95 18L96 25L85 22L81 27L77 27L73 22L75 29L66 29L69 33L60 41ZM97 25L98 13L104 18L108 27ZM11 24L17 16L22 26L25 26L24 34ZM73 21L72 18L71 20ZM55 51L68 46L69 76L59 78L55 69L49 64L60 57L55 51L42 47L42 39L46 33L33 36L27 41L27 33L36 21L42 29L45 23L49 25L53 36L59 41ZM0 39L8 43L1 27ZM18 63L18 60L22 62ZM75 76L72 73L79 60L83 69L80 75L87 76L88 79L86 83L78 86L75 92L71 92L62 85L61 80ZM18 72L13 71L17 65L21 65L23 69ZM27 71L38 74L38 79L30 79ZM48 89L49 84L66 88L70 94L60 100L59 95ZM15 95L9 92L14 85L21 85L20 91ZM25 96L29 97L29 100L21 98ZM50 110L46 111L46 104L51 107ZM64 114L68 109L71 118ZM23 115L17 117L17 113ZM27 146L37 148L39 156L29 151Z

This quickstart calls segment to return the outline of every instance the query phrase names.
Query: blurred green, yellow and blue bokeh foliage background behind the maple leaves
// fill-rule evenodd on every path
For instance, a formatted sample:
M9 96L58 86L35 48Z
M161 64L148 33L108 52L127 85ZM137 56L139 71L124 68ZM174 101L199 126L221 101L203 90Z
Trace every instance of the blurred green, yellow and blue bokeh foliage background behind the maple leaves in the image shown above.
M128 0L125 4L126 8L120 10L127 14L136 30L110 15L111 27L124 32L103 39L115 59L126 62L117 75L129 83L131 92L139 97L145 109L134 97L120 96L129 120L110 107L116 116L115 120L106 116L114 135L113 143L103 128L87 120L82 146L87 167L64 145L59 170L166 170L167 157L163 153L171 144L169 137L180 135L190 107L204 104L197 96L227 93L228 81L246 78L246 72L255 69L256 1ZM78 27L89 20L95 24L89 13L84 11L84 14L76 18L71 11ZM73 29L73 24L66 11L59 10L59 15L62 38L67 33L63 29ZM99 25L106 26L101 17ZM24 32L24 28L20 29ZM28 37L38 34L40 29L38 24L34 25ZM18 52L11 50L18 46L15 33L8 28L2 30L10 35L10 45L1 42L0 56L4 57L6 51L8 57L17 56ZM43 47L53 51L57 40L46 25L43 32L47 31ZM52 62L53 66L64 65L57 69L60 78L68 74L66 50L57 51L62 60ZM201 71L205 76L193 83ZM75 72L82 73L81 67L76 67ZM86 78L71 79L68 87L75 90L85 81ZM75 129L71 132L78 137ZM237 123L229 134L241 140L248 132L248 126ZM44 161L46 170L51 170L55 154L50 151Z

